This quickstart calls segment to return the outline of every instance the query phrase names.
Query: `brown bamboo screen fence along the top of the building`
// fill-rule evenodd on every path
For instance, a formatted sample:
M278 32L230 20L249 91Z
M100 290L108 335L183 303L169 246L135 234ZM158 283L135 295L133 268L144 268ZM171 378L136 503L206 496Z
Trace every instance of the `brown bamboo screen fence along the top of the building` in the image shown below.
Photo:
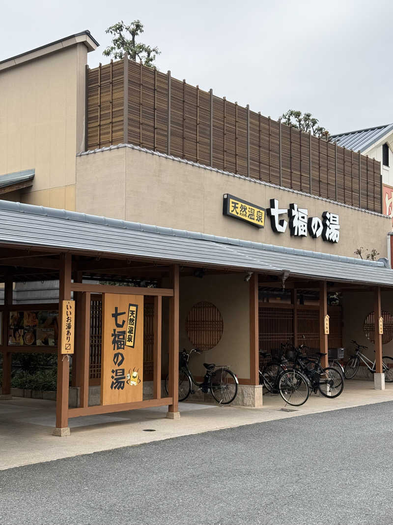
M124 58L86 72L86 150L129 143L381 212L380 163Z

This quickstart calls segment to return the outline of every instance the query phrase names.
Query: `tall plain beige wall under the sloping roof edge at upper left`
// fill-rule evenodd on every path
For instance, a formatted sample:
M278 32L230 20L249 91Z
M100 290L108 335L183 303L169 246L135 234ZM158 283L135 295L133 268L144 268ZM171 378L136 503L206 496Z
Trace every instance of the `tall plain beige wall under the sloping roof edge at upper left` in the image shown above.
M36 170L21 202L75 209L87 53L84 44L75 44L0 71L0 176Z

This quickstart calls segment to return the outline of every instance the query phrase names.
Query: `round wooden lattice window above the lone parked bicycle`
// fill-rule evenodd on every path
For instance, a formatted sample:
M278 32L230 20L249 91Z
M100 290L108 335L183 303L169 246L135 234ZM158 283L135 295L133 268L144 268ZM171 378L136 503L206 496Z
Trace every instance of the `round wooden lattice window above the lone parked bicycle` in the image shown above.
M194 304L185 320L185 331L191 344L200 350L216 346L224 331L220 310L211 302Z

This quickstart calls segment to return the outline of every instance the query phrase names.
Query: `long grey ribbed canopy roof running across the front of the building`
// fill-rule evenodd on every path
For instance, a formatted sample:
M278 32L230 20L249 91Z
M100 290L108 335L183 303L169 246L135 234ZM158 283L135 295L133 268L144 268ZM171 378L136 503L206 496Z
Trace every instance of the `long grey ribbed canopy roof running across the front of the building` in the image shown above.
M393 286L393 270L386 267L386 260L366 261L9 201L0 201L0 244Z

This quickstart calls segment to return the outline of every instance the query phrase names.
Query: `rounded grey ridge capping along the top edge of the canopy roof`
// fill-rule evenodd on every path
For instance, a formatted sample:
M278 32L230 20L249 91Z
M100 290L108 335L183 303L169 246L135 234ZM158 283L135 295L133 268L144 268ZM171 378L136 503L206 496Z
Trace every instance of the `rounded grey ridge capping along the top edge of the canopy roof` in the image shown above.
M47 208L45 206L36 206L33 204L25 204L12 201L0 200L0 210L7 210L12 212L41 215L52 218L60 218L72 220L74 222L82 222L88 224L100 224L113 228L131 229L139 232L156 233L159 235L166 235L172 237L183 237L191 239L199 239L210 241L214 243L227 244L232 246L240 246L243 248L256 248L260 250L276 251L281 253L302 255L313 258L336 260L340 262L349 262L364 266L385 266L383 261L370 261L364 259L356 259L355 257L347 257L343 255L325 254L320 251L304 250L299 248L290 248L286 246L277 246L272 244L259 243L252 240L233 239L231 237L221 237L213 234L205 234L200 232L190 232L188 230L181 230L176 228L168 228L165 226L155 226L150 224L134 223L128 220L114 219L108 217L100 217L99 215L90 215L80 212L71 212L65 209Z

